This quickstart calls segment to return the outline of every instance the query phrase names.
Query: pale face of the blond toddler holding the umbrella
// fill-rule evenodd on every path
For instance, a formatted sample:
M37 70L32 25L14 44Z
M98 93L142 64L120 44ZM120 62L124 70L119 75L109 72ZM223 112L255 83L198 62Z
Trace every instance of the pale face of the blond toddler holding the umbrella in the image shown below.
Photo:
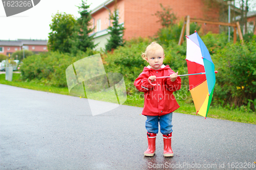
M146 61L150 64L151 68L153 69L160 69L163 64L163 50L158 48L155 51L151 51L151 53L145 57Z

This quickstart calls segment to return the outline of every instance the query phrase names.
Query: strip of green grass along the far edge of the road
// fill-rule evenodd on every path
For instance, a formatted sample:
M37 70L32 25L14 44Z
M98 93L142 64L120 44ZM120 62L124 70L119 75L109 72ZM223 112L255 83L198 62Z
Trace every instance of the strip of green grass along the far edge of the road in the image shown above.
M11 86L23 87L23 88L33 89L33 90L70 95L67 87L61 88L61 87L55 87L55 86L47 86L47 85L36 83L36 82L24 82L20 80L20 74L13 74L13 81L11 82L6 81L5 74L2 74L0 75L0 84L7 84ZM94 96L94 98L97 99L97 96ZM100 96L98 96L98 98L101 99ZM187 103L187 101L184 101L184 100L178 100L178 103L180 105L180 108L177 109L175 112L196 115L196 109L193 103ZM143 94L127 95L127 100L123 105L143 107L144 96ZM207 117L231 120L234 122L256 124L255 112L243 112L238 109L230 110L222 107L211 106L207 114Z

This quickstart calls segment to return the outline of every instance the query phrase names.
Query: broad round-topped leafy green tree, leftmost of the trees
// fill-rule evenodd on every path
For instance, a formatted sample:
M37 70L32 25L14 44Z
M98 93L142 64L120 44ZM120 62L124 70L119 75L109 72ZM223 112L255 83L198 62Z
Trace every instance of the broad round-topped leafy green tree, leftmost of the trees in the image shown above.
M49 33L48 49L49 51L59 51L70 53L71 36L74 32L76 20L73 15L66 13L57 13L52 16Z

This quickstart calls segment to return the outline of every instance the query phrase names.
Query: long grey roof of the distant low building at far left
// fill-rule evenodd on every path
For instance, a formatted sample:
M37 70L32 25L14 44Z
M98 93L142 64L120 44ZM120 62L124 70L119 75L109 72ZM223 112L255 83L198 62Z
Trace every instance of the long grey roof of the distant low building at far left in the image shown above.
M0 40L0 45L4 46L47 45L47 43L47 40L34 39Z

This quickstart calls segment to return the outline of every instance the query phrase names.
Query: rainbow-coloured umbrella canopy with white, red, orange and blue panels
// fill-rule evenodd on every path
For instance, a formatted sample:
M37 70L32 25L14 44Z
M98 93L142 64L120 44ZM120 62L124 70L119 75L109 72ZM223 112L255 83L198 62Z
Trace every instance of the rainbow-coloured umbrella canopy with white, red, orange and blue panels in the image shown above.
M188 80L197 113L206 117L214 93L215 67L207 47L197 32L187 36L186 61L188 74L205 72L203 75L188 76Z

